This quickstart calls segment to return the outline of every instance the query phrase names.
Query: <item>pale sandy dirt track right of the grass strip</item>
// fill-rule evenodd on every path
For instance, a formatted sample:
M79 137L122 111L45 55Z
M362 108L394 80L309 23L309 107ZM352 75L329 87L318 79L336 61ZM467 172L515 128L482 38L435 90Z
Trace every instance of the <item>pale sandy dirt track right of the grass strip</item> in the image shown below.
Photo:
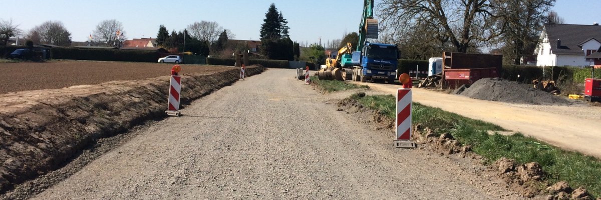
M399 85L361 83L395 94ZM537 106L492 102L414 88L413 101L465 117L497 124L559 147L601 158L601 107Z

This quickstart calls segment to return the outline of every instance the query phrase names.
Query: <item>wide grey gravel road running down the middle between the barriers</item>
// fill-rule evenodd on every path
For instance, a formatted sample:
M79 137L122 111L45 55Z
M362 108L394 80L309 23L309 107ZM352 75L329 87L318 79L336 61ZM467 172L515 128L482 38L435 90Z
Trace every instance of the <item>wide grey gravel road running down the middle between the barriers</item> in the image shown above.
M34 199L520 199L469 159L393 148L293 74L203 97Z

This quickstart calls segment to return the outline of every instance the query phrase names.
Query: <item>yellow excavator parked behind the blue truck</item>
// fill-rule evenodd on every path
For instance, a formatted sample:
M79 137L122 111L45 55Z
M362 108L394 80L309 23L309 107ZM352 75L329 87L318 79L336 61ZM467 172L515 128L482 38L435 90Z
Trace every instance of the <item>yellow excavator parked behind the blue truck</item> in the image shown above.
M338 54L336 55L336 58L332 58L331 55L328 56L328 59L326 59L326 68L322 68L321 70L317 71L317 76L319 77L320 80L346 80L346 72L344 71L344 68L341 66L341 63L343 61L341 61L341 59L343 59L344 55L349 55L350 58L350 52L351 52L352 46L350 45L350 43L346 43L346 46L340 48L340 50L338 50ZM347 56L344 56L347 57Z

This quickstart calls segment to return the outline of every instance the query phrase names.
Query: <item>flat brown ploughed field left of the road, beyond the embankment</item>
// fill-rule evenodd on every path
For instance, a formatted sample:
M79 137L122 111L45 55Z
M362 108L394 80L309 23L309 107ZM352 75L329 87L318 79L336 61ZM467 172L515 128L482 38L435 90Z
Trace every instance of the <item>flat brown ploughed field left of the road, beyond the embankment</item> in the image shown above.
M49 61L0 63L0 94L93 85L112 80L168 76L174 64L148 62ZM183 74L211 74L230 67L181 64Z

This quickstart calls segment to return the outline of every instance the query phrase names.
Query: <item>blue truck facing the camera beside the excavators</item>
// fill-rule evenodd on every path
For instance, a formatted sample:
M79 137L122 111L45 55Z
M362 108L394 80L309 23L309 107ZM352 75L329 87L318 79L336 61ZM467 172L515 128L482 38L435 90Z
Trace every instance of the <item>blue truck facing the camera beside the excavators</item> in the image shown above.
M398 47L395 44L365 42L359 52L352 53L353 80L394 83L397 73Z

